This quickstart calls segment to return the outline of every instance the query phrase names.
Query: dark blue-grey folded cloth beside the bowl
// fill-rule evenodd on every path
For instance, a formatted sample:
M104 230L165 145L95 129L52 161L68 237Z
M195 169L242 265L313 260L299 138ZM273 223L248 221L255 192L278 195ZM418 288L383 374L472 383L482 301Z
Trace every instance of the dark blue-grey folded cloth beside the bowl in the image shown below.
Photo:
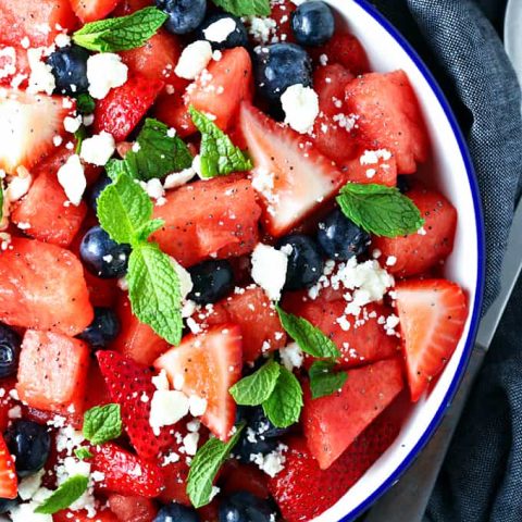
M424 58L468 138L481 187L487 268L499 274L522 184L520 86L495 29L502 0L374 0ZM522 282L486 358L430 502L428 522L522 520ZM409 521L408 521L409 522Z

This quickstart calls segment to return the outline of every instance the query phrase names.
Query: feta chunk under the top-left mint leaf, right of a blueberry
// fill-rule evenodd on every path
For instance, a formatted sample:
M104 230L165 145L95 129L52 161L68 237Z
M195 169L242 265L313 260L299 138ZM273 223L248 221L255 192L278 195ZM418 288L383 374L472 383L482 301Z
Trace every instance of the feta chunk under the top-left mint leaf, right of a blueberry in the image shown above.
M89 95L97 100L102 100L111 89L124 85L127 75L128 67L122 62L122 57L113 52L92 54L87 60Z

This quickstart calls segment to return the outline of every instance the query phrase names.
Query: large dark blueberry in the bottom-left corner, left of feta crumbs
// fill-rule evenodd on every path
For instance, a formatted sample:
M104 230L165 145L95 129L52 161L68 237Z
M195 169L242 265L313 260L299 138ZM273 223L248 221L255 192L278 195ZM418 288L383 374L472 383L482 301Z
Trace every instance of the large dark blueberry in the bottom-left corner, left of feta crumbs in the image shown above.
M41 470L51 449L51 436L47 427L33 421L14 421L5 432L5 442L16 459L16 472L22 477Z

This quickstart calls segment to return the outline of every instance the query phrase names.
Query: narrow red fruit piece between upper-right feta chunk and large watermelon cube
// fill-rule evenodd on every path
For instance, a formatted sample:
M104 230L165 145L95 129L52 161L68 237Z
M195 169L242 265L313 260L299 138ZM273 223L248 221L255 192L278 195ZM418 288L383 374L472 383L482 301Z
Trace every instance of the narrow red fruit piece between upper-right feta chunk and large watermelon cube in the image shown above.
M318 150L339 166L353 158L357 142L351 136L356 120L345 113L345 88L353 75L343 65L319 67L313 88L319 96L320 113L313 126L312 140Z

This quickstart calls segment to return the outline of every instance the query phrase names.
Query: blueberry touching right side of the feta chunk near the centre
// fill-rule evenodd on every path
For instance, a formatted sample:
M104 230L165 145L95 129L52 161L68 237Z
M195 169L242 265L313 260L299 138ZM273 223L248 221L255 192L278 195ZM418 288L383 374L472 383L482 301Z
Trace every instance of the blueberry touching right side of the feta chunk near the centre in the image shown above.
M314 285L323 275L323 258L313 239L302 234L290 234L277 241L277 248L288 253L286 269L287 290L299 290Z

